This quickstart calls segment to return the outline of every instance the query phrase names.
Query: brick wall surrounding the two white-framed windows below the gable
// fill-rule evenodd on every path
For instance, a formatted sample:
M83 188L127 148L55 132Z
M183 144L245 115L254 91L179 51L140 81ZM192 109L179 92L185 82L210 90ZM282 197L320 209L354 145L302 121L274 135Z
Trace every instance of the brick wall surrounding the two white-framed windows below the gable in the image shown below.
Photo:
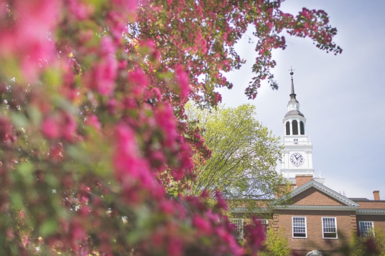
M292 217L306 217L307 238L294 238L292 235ZM322 238L322 217L336 217L338 239ZM349 242L351 231L357 230L355 211L297 211L278 210L274 214L274 228L283 228L288 237L289 247L298 255L306 255L312 250L336 252L343 242ZM345 238L342 239L342 236Z

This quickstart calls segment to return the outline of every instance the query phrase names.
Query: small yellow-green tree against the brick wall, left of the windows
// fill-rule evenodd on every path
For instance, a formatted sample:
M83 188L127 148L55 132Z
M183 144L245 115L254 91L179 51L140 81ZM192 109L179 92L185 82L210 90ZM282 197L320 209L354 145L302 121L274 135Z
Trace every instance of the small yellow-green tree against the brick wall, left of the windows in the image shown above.
M282 228L278 233L275 233L274 229L269 229L264 245L265 250L259 253L261 256L288 256L291 251Z

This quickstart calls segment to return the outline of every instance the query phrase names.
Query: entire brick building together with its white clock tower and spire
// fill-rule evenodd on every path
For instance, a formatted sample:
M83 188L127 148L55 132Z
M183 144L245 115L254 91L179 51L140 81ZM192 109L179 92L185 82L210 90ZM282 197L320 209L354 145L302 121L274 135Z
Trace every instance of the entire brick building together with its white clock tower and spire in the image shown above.
M380 200L380 191L373 191L374 200L347 198L323 185L325 178L321 173L314 175L313 145L299 105L292 78L288 112L283 119L281 167L281 174L292 183L292 192L285 196L284 204L265 209L270 217L264 222L275 231L283 229L297 255L338 255L337 248L349 241L352 231L359 231L362 236L375 227L385 231L385 200ZM245 209L233 211L241 216ZM235 221L241 234L243 220Z

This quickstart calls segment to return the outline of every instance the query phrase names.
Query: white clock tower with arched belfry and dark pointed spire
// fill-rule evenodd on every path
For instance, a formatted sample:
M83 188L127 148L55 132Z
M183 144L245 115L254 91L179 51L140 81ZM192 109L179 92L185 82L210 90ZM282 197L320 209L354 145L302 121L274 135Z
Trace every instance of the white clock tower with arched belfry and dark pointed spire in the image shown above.
M287 114L283 118L285 135L283 136L282 167L281 174L296 183L296 174L311 174L314 180L323 184L325 178L321 173L318 177L314 176L313 167L313 144L310 137L306 134L306 118L300 113L300 104L296 100L294 93L293 70L292 75L292 94L287 104Z

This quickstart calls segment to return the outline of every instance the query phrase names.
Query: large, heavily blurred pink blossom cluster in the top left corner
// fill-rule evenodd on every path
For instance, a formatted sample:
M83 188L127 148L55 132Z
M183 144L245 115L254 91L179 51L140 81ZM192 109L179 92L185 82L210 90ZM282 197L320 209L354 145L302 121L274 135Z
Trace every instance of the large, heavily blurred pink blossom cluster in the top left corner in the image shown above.
M13 2L18 19L14 26L0 31L0 55L17 56L24 78L35 80L41 65L54 56L54 40L48 39L48 33L58 21L60 1Z

